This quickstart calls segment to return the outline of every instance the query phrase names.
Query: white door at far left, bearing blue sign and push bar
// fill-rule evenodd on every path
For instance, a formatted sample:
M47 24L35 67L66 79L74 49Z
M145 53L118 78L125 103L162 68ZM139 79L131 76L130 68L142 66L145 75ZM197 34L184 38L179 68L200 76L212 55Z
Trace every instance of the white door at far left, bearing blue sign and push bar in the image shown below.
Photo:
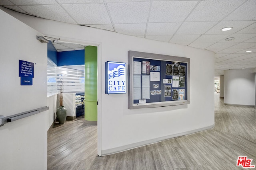
M47 105L47 44L38 31L0 10L0 115ZM32 86L20 86L19 60L34 63ZM0 127L1 170L47 169L47 111Z

